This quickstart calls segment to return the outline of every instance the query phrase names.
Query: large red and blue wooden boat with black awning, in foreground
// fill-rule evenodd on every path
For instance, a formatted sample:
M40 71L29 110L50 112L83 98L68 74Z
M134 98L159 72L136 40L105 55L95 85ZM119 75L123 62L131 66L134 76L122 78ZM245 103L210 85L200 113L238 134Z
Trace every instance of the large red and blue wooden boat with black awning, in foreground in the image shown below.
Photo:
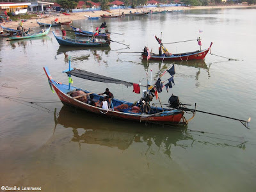
M96 106L91 106L86 102L81 102L80 100L78 100L77 97L71 97L70 95L72 91L76 91L76 90L81 90L84 93L90 93L89 91L83 90L81 88L77 88L74 86L70 86L70 84L62 84L60 82L54 81L47 67L44 67L44 71L48 78L51 88L52 87L54 88L55 92L57 93L58 97L60 98L63 104L66 104L68 106L73 106L75 108L83 109L85 111L88 111L89 113L108 116L110 118L120 118L122 120L130 120L130 121L136 121L136 122L152 122L152 123L159 123L159 124L179 124L180 120L184 115L184 111L180 109L165 109L165 108L162 109L157 107L151 107L149 113L141 113L140 111L134 113L132 112L132 106L133 106L132 102L126 102L124 100L119 100L119 99L111 100L111 109L102 109ZM74 76L81 77L83 76L83 72L85 71L74 68L72 70L70 69L65 72L67 72L69 76L71 76L70 74L72 74ZM92 73L90 74L92 75ZM96 75L97 77L97 74L93 74L93 75ZM113 78L109 78L109 79L110 81L118 80ZM128 83L127 85L129 85L129 82L118 80L118 84L120 82L122 84ZM99 96L96 93L92 93L92 95L94 96L95 100L99 100L100 98L103 99L102 96ZM122 104L127 106L128 108L120 111L119 110L115 111L115 108L118 108L118 106L121 106Z

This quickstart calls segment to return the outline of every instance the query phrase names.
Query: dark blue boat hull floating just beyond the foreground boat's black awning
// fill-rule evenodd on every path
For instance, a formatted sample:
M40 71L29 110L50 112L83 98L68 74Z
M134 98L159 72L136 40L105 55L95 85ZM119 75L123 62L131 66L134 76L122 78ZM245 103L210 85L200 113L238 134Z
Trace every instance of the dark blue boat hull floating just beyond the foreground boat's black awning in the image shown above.
M95 42L93 42L93 40L75 40L72 38L62 38L62 36L56 36L53 31L52 33L60 45L73 47L106 47L110 45L109 40L95 39Z

